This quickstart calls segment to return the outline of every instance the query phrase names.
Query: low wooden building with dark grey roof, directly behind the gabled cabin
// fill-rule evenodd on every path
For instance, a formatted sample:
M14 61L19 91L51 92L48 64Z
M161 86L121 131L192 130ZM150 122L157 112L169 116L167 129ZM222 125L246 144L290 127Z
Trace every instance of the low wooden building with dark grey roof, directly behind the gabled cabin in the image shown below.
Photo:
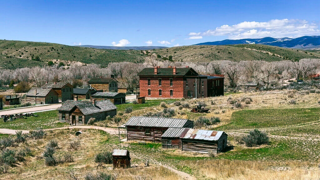
M123 104L125 103L125 94L124 93L111 93L111 92L96 92L91 95L91 101L103 101L110 100L114 104Z

